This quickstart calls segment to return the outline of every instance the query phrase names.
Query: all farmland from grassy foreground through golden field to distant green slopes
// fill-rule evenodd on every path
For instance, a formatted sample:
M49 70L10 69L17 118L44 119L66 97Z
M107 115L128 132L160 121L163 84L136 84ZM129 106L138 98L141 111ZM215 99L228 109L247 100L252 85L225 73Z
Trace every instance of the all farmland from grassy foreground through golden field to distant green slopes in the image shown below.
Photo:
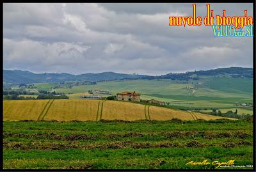
M197 77L7 86L7 95L35 100L3 101L3 168L252 169L252 78ZM136 91L143 101L106 98L122 91ZM39 100L39 93L69 100ZM106 100L86 99L92 93ZM150 99L164 107L145 101ZM234 160L237 168L186 165L204 160Z

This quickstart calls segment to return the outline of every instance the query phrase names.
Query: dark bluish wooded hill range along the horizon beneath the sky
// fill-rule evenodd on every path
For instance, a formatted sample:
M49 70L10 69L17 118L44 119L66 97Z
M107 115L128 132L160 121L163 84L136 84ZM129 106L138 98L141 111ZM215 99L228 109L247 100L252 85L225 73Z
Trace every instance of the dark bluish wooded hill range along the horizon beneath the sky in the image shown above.
M253 77L252 68L230 67L230 68L217 68L213 70L199 70L195 72L186 73L170 73L160 76L149 75L132 75L132 74L118 74L115 72L103 72L99 74L34 74L32 72L23 70L3 70L3 82L11 84L27 84L27 83L41 83L41 82L67 82L67 81L114 81L124 79L198 79L200 75L223 75L227 74L231 77Z

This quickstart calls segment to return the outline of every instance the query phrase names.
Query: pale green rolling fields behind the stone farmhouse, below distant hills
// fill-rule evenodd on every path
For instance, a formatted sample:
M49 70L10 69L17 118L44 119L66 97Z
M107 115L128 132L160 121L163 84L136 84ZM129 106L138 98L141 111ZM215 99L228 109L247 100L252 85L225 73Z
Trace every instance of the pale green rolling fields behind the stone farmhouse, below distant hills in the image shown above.
M51 89L51 84L36 84L38 89ZM195 91L188 89L194 88ZM77 93L100 89L110 91L113 95L122 91L137 91L141 99L154 98L163 102L170 102L170 106L178 108L200 109L231 109L241 111L244 107L236 103L252 103L253 81L248 78L232 78L228 76L212 77L201 76L199 80L172 81L161 80L130 80L97 82L96 85L74 86L59 88L56 92L70 94L70 98L81 98ZM102 95L106 97L107 95ZM252 107L244 113L252 114Z

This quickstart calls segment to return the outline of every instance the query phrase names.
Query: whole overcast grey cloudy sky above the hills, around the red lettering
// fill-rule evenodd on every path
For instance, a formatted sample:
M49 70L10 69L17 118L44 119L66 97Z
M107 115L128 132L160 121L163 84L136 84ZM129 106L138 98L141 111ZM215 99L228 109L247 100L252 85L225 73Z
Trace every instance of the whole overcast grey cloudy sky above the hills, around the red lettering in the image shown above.
M205 17L205 4L196 4ZM211 4L252 15L253 4ZM210 26L169 26L192 4L4 4L3 67L35 73L159 75L253 64L253 38L215 38Z

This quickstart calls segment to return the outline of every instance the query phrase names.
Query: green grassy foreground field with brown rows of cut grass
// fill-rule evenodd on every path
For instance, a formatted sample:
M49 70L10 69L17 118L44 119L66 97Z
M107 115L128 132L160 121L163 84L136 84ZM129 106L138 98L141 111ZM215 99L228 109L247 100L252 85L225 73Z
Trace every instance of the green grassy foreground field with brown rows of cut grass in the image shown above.
M212 164L186 165L192 160L235 160L235 166L252 169L253 123L241 120L3 122L4 169L216 168Z

